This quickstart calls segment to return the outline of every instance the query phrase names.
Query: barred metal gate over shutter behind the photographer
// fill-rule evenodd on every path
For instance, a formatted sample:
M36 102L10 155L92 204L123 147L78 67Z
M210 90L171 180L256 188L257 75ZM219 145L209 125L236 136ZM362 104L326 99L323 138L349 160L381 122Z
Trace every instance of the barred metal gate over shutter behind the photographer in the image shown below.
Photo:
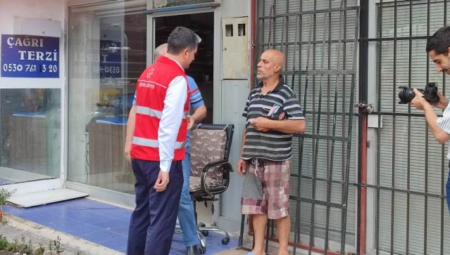
M424 89L437 82L449 91L446 77L427 58L427 38L449 24L448 1L371 1L376 25L369 24L368 102L375 119L368 139L368 238L370 254L449 254L449 212L444 185L447 145L427 128L423 111L399 105L399 86ZM373 12L375 13L375 12ZM369 18L367 18L369 19ZM441 111L437 112L439 115ZM370 153L369 153L370 154ZM369 236L368 236L369 237Z

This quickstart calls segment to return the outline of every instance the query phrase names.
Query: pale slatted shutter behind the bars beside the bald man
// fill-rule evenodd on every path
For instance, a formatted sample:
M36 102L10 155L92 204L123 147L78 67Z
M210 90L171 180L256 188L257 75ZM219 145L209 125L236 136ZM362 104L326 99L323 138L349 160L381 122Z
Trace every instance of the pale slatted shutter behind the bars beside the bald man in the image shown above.
M314 6L315 4L315 6ZM292 72L294 69L296 71L304 71L306 70L307 58L308 55L308 37L310 30L310 18L315 19L315 25L311 25L311 41L316 41L317 44L311 44L310 51L310 60L309 60L309 70L320 70L322 58L324 59L324 69L336 69L337 68L337 52L338 52L338 44L337 40L339 39L339 12L332 12L331 20L329 15L327 15L327 20L325 22L325 16L323 10L328 10L330 8L336 9L339 8L341 1L289 1L289 0L265 0L258 1L257 12L258 12L258 24L256 34L256 39L258 41L258 48L256 48L256 63L258 62L259 56L261 55L264 49L275 48L281 50L286 54L287 63L284 69L284 76L287 84L292 85ZM346 7L349 8L351 6L357 6L358 1L346 1ZM331 5L331 6L330 6ZM301 12L310 12L309 14L302 15L302 18L299 19L299 25L296 25L296 16L290 15L288 18L280 16L286 13L299 13ZM314 14L315 13L315 14ZM272 16L273 19L270 22L270 19L261 20L261 17L269 17ZM345 66L345 69L351 70L353 65L353 49L354 49L354 34L355 34L355 25L356 25L356 10L353 9L351 11L346 11L344 13L345 19L342 22L342 40L346 41L345 44L342 44L342 55L340 57L340 69ZM325 24L326 23L326 24ZM300 25L301 24L301 25ZM331 30L329 30L329 25L331 24ZM296 32L296 30L299 30ZM328 40L330 37L332 43L325 44L325 48L323 48L323 32L325 30L325 40ZM296 42L295 37L299 37L297 40L300 45L296 48L294 47L294 43ZM281 44L283 41L285 44ZM328 54L328 50L330 47L330 54ZM296 57L294 57L294 50L296 51ZM324 54L324 55L323 55ZM295 59L295 63L294 63ZM330 60L330 66L328 65L328 60ZM295 65L295 66L294 66ZM255 69L256 70L256 69ZM320 84L320 75L310 76L310 80L308 81L308 97L306 104L306 111L308 114L306 115L307 120L307 131L306 133L316 133L317 124L318 124L318 87ZM301 106L304 107L304 92L305 92L305 75L294 75L294 91L298 96ZM332 135L332 123L333 118L332 115L327 117L327 114L324 112L332 113L334 107L334 98L335 98L335 84L336 84L336 76L331 76L330 80L328 80L327 75L323 77L323 104L321 112L323 113L320 119L320 135ZM350 96L350 88L351 88L351 76L346 75L344 81L342 76L340 77L337 83L337 112L349 112L349 96ZM355 102L357 100L355 99ZM348 130L348 117L338 117L335 119L336 121L336 135L344 136L346 135L346 131ZM356 181L356 166L357 166L357 155L356 150L358 145L356 140L357 136L357 122L358 119L354 118L353 125L353 136L352 136L352 146L351 146L351 163L350 163L350 182L354 183ZM292 162L294 164L292 168L292 174L298 176L300 162L302 160L301 169L302 170L302 178L301 178L301 197L313 198L312 192L312 169L314 161L314 143L312 139L304 140L304 150L303 157L299 158L299 138L294 137L293 140L293 154L294 158ZM330 168L330 160L331 160L331 142L330 140L319 140L319 149L317 155L317 178L326 179L327 178L327 169ZM334 158L333 158L333 181L341 182L344 175L344 168L346 162L346 145L343 145L342 142L335 142L335 150L334 150ZM291 195L297 194L297 186L298 186L299 178L291 178ZM315 200L326 201L327 200L327 185L324 181L318 181L316 192L315 192ZM332 185L332 195L331 202L340 204L342 201L342 188L339 183ZM356 188L354 186L349 186L349 199L348 199L348 209L347 209L347 218L346 218L346 244L350 244L351 246L356 246ZM301 238L300 242L308 244L308 235L311 233L311 204L306 202L301 202L300 207L300 233ZM296 229L296 202L291 202L291 218L292 218L292 231ZM326 220L326 207L315 205L314 210L314 236L315 240L318 242L315 245L320 246L320 241L325 238L325 220ZM335 244L340 244L341 240L341 222L342 215L340 209L331 209L330 210L330 242L336 242ZM330 244L331 245L331 244Z

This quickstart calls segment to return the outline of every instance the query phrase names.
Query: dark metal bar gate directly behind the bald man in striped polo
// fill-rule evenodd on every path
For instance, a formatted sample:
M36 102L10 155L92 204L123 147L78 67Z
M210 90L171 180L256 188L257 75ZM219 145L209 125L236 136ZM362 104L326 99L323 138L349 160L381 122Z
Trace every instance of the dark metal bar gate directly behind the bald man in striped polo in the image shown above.
M356 252L357 188L349 183L356 182L358 148L357 2L256 1L254 63L268 48L285 53L282 74L306 113L307 131L293 139L289 243L294 254ZM269 225L267 240L276 240L275 224Z

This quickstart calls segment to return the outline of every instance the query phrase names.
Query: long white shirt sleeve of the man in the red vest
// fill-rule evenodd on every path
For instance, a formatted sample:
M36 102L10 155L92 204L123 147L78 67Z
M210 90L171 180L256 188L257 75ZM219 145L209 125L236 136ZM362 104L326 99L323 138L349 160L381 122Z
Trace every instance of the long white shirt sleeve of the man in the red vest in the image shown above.
M170 171L186 100L187 80L182 76L175 77L165 93L163 115L159 122L158 146L161 171Z

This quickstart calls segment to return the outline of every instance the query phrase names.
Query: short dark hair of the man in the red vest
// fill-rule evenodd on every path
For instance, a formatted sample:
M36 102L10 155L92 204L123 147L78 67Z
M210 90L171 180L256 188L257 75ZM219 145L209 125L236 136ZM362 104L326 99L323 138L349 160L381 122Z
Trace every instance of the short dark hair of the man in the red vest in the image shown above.
M192 30L186 27L176 27L167 39L167 52L169 54L178 55L185 48L192 51L200 44L200 37Z

